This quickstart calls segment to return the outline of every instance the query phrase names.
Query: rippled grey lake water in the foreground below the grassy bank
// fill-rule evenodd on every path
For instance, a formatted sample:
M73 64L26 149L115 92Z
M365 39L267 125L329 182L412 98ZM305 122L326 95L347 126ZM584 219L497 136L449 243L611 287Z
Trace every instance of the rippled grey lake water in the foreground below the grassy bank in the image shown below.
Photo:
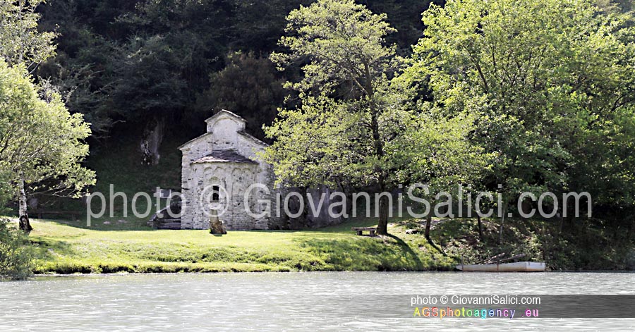
M411 296L432 294L632 295L635 273L45 277L0 283L0 331L635 331L635 319L413 318Z

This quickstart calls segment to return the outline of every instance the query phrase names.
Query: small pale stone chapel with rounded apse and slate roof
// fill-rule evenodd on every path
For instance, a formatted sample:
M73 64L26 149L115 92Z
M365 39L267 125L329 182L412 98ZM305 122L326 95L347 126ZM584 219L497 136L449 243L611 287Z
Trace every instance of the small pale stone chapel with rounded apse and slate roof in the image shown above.
M208 229L210 216L217 213L228 230L269 229L269 218L253 218L244 206L245 192L254 183L266 185L273 194L272 168L256 157L267 145L247 134L245 119L230 111L219 111L205 122L207 133L179 147L183 153L181 228ZM272 194L253 190L247 202L250 211L265 211L267 205L256 202Z

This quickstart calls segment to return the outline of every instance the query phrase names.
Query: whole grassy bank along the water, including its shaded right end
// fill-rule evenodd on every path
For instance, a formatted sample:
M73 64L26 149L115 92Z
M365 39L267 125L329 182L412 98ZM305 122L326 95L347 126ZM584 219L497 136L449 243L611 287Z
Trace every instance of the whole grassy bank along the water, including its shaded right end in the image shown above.
M298 231L129 230L130 225L82 228L80 223L33 221L35 273L217 272L217 271L426 271L452 270L460 262L477 262L500 252L526 254L549 269L633 269L632 242L616 242L588 226L574 235L553 235L545 221L509 221L502 245L497 223L444 219L433 222L437 251L421 233L416 219L393 221L388 237L360 237L352 226L372 220ZM119 229L117 229L119 228Z

